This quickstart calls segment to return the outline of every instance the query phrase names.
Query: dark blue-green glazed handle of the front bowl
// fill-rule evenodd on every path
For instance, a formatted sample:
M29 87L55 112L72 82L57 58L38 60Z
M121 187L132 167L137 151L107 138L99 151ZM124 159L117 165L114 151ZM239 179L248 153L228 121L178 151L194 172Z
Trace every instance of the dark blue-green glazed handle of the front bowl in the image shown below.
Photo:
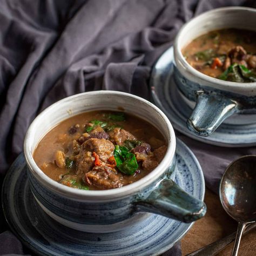
M163 179L150 195L133 203L138 212L152 212L168 218L191 223L203 217L206 205L184 190L171 179Z

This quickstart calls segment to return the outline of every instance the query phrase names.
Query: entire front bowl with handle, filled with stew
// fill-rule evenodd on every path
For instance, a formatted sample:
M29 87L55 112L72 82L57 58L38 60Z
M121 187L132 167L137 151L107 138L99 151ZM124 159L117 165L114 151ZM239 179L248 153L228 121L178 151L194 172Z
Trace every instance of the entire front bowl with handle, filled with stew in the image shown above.
M204 202L173 181L175 149L173 127L158 107L116 91L60 100L33 120L24 141L38 205L60 224L95 233L136 225L149 213L187 223L204 216Z

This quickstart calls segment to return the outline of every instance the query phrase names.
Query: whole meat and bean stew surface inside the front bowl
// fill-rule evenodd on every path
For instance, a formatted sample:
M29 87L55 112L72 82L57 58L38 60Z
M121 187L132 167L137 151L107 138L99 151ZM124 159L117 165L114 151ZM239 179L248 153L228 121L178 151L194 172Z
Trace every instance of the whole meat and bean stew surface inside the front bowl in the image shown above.
M123 112L93 111L58 124L33 154L51 179L81 190L106 190L137 181L166 152L156 127Z

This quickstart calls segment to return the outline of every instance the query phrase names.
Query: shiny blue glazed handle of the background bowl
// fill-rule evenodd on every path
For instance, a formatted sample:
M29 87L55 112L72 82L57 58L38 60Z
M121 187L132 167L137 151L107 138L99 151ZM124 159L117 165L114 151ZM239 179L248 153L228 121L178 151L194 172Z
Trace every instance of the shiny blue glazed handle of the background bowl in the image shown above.
M218 93L197 92L197 104L187 119L188 129L199 136L209 136L233 113L239 112L239 103Z

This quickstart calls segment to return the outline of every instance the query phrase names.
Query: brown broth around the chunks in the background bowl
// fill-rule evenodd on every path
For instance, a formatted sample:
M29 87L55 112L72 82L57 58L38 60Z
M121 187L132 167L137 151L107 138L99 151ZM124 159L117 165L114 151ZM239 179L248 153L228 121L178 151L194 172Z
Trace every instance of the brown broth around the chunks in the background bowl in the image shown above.
M234 46L242 46L250 55L256 54L256 32L241 29L221 29L210 31L189 43L182 53L187 62L199 72L218 78L225 71L224 66L212 68L207 60L198 58L198 52L212 49L214 57L227 55ZM210 60L211 62L211 60ZM251 67L252 68L252 67ZM253 69L253 68L252 68ZM255 70L253 70L255 71Z

